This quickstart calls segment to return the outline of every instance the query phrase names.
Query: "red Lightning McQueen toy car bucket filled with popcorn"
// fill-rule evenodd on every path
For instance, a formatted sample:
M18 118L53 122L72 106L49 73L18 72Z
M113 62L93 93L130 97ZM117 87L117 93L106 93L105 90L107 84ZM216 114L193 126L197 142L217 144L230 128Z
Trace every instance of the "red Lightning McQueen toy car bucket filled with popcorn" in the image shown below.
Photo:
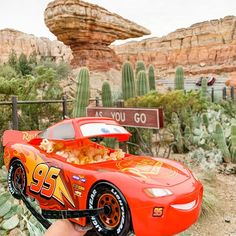
M186 167L106 148L97 137L126 141L130 133L110 118L88 117L43 132L5 131L11 194L36 199L46 218L91 222L99 235L173 235L197 221L203 187Z

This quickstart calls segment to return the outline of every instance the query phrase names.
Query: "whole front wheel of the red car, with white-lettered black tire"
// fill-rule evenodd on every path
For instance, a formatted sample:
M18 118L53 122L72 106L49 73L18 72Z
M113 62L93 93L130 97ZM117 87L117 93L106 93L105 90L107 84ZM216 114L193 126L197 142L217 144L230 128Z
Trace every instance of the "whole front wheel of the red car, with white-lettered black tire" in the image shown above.
M127 201L114 185L100 182L90 191L88 208L104 206L105 213L91 217L91 223L98 235L128 235L131 230L131 216Z

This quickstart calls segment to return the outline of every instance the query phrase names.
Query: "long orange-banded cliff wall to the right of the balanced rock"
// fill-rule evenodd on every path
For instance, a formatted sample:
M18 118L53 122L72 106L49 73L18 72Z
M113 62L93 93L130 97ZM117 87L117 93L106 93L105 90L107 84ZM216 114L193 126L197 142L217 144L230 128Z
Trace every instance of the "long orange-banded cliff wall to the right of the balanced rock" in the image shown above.
M197 23L162 38L130 42L113 49L121 61L143 60L153 64L160 77L174 75L182 65L186 75L236 71L236 17Z

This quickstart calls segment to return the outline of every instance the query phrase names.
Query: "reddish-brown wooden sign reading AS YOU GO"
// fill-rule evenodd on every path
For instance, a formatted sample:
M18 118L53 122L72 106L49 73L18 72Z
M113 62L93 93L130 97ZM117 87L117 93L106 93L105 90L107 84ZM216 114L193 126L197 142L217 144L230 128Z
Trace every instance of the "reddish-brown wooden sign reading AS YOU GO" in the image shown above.
M164 125L162 109L90 107L87 116L111 117L129 127L160 129Z

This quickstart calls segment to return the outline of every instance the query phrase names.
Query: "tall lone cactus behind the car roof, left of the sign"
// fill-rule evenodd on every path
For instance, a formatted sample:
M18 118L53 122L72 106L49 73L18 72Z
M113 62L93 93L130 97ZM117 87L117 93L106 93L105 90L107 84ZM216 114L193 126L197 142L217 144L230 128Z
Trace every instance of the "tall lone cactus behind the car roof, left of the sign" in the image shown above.
M86 67L80 69L77 77L76 102L73 109L73 117L86 116L86 107L89 104L89 70Z

